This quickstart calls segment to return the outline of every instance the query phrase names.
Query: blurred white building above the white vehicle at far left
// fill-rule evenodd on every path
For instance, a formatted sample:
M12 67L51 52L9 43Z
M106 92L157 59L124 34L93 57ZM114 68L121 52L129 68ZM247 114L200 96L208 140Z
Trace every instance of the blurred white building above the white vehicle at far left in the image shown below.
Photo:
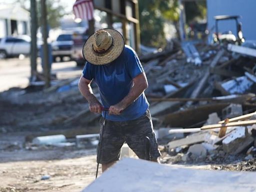
M29 11L10 4L0 4L0 37L30 34Z

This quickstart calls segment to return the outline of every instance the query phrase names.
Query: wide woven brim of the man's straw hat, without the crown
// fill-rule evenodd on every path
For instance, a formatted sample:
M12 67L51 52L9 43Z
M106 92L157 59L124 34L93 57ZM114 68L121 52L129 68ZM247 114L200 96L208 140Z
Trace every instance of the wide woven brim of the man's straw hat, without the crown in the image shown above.
M85 60L91 64L102 65L115 60L124 48L124 39L120 32L114 29L105 28L112 37L112 45L102 53L98 53L93 49L93 34L88 37L82 48L82 54Z

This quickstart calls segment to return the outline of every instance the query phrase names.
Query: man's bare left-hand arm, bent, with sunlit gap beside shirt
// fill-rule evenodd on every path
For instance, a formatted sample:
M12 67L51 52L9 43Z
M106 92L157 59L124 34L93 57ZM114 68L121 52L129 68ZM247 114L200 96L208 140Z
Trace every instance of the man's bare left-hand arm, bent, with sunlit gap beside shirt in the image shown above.
M91 112L101 112L101 104L98 99L94 96L91 86L91 80L84 78L82 75L78 82L78 88L81 94L86 98L89 103L89 109Z

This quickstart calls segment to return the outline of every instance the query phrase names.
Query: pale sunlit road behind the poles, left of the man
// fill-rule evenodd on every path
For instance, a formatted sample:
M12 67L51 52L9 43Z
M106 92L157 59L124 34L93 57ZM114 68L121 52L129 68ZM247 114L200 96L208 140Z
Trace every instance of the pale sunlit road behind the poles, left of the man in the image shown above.
M81 74L81 67L77 67L74 61L54 62L51 65L51 72L55 73L58 79L78 77ZM37 70L42 71L40 59L37 59ZM11 87L26 87L29 83L30 60L8 58L0 60L0 92Z

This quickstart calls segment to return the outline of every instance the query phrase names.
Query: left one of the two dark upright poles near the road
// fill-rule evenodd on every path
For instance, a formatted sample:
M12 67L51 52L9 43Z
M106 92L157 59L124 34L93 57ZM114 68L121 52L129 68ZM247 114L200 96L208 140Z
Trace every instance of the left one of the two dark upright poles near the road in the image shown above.
M36 75L36 29L37 29L37 14L36 14L36 0L30 0L30 17L31 17L31 42L30 42L30 81L35 79Z

